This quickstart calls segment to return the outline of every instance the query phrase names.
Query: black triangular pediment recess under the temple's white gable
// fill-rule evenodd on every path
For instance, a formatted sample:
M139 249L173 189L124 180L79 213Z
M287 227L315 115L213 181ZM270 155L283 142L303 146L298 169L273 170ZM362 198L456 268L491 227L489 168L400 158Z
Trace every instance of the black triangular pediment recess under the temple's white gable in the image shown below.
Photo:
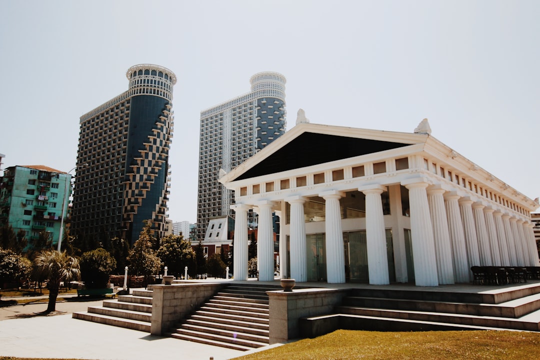
M303 133L234 180L305 168L311 165L378 153L379 151L409 145L397 142L358 139L357 137Z

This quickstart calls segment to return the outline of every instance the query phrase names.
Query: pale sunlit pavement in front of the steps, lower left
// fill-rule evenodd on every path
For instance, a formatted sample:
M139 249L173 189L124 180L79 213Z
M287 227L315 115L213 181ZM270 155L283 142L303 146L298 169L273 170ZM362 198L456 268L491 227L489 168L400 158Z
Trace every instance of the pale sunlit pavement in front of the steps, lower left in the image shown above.
M47 304L0 308L0 356L97 360L226 360L249 352L214 347L142 331L72 319L100 301L59 302L66 311L49 316ZM251 352L251 351L250 351Z

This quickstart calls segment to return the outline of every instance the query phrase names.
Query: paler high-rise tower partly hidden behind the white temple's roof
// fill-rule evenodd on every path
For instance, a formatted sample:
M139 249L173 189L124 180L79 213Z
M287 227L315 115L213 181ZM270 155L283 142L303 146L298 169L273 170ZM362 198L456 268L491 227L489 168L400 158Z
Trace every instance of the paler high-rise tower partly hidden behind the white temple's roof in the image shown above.
M202 239L211 217L230 216L233 192L218 181L285 133L283 75L261 72L250 79L251 91L200 114L197 237ZM255 216L249 223L256 226Z

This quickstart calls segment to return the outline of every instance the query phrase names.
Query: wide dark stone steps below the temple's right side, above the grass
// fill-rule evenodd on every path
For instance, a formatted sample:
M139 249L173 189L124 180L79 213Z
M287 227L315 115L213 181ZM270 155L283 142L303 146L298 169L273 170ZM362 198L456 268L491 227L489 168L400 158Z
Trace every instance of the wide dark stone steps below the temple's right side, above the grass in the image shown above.
M487 293L353 289L335 314L347 327L377 330L496 328L540 331L540 286Z

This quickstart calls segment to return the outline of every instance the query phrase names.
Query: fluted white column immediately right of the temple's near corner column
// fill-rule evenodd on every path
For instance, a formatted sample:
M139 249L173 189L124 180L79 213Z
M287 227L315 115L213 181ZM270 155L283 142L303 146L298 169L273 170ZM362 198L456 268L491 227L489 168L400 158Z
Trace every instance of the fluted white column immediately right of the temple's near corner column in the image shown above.
M428 189L428 203L435 238L435 255L437 257L438 282L441 285L455 283L454 266L452 264L452 250L450 246L450 233L448 231L448 218L444 208L443 193L446 190L440 186Z

